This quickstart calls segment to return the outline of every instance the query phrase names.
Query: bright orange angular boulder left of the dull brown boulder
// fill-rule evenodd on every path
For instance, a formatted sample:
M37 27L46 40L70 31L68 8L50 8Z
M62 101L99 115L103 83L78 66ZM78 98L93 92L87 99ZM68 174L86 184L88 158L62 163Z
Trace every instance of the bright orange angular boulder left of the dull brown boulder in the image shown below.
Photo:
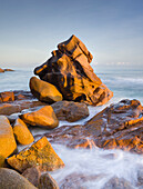
M30 112L23 112L20 118L30 126L39 126L47 129L53 129L59 125L59 120L51 106L31 109Z

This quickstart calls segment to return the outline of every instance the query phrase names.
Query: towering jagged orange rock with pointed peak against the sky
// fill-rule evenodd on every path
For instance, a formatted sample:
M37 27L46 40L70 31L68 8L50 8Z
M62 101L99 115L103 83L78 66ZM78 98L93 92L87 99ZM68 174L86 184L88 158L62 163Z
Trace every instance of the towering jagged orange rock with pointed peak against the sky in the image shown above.
M83 42L72 36L58 44L58 50L45 63L37 67L34 73L54 84L64 100L104 105L113 92L93 72L90 66L92 58Z

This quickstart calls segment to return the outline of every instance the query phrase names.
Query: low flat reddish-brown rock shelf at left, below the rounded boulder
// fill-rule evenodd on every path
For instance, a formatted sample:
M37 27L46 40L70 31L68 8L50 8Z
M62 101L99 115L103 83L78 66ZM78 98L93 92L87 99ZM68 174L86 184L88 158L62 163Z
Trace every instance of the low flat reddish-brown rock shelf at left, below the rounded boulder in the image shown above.
M0 103L0 115L10 116L12 113L21 112L23 109L40 106L45 106L45 103L29 100L13 101L12 103Z

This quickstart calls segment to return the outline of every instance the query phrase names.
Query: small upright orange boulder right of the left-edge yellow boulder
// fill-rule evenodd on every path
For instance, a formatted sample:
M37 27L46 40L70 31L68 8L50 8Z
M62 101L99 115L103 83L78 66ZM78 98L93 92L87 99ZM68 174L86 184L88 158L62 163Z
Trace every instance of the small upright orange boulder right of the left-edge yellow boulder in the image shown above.
M30 145L34 141L32 133L20 118L16 120L13 126L13 133L20 145Z

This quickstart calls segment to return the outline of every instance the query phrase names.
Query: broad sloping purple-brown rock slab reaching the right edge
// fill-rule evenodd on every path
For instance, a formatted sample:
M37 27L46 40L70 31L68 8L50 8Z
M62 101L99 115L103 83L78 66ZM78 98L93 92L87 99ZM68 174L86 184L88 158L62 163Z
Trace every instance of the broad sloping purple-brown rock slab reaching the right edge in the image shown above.
M143 107L122 100L105 108L84 126L64 126L47 133L50 141L72 148L100 147L143 153Z

